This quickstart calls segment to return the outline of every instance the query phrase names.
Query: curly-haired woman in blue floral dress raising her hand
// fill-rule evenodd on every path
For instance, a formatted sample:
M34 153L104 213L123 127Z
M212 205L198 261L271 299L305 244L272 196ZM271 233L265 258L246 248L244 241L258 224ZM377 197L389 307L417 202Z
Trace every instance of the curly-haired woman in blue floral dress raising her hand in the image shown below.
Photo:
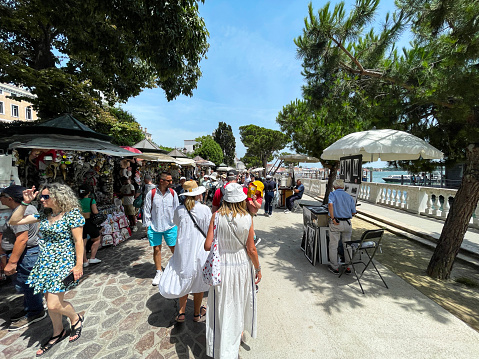
M10 219L12 225L40 222L43 235L41 253L33 267L27 284L34 293L44 293L48 314L53 324L52 337L37 351L37 357L45 354L65 338L62 316L70 319L70 342L80 338L83 316L64 300L65 291L75 287L83 275L83 225L79 203L72 189L59 183L48 184L40 191L40 202L48 212L24 217L25 208L38 195L35 187L23 192L22 205ZM65 279L72 275L70 283Z

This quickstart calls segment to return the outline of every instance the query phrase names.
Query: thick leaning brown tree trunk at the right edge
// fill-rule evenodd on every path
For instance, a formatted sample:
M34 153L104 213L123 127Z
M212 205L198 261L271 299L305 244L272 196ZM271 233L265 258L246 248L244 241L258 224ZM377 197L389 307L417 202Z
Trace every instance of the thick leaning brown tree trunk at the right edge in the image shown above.
M446 199L447 200L447 199ZM469 220L479 201L479 147L466 148L466 166L451 209L447 216L427 274L436 279L449 279L457 253L461 248Z

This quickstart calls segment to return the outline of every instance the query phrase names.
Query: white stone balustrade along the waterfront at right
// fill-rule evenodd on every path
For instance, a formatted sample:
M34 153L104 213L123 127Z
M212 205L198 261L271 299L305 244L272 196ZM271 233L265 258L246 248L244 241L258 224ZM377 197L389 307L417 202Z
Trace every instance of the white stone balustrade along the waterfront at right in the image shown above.
M302 182L305 193L310 196L324 196L326 193L326 180L304 178ZM445 220L456 192L455 189L447 188L363 182L358 199ZM479 228L479 204L472 215L470 226Z

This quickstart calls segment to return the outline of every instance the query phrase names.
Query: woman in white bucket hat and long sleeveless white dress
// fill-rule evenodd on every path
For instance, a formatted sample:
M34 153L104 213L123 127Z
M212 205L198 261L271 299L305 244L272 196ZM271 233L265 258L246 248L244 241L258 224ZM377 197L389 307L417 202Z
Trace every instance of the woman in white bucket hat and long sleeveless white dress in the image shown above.
M210 287L206 314L206 354L214 358L236 359L243 331L253 338L257 334L255 287L261 266L245 199L241 185L225 187L223 204L211 218L205 241L209 251L216 224L221 283Z

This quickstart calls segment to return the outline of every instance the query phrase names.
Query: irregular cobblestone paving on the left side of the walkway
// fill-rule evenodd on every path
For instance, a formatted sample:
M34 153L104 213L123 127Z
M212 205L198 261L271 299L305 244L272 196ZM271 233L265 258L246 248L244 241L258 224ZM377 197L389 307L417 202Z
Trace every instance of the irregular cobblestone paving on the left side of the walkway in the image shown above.
M85 313L82 336L74 343L63 340L45 358L208 358L205 323L193 322L192 298L187 320L177 324L178 301L163 298L151 285L155 268L144 235L139 231L117 247L102 249L102 263L85 268L80 285L65 295L77 312ZM165 266L171 257L168 247L163 246L162 256ZM7 330L22 302L11 284L0 286L1 359L33 358L52 334L48 317L26 330ZM66 318L64 326L69 328Z

